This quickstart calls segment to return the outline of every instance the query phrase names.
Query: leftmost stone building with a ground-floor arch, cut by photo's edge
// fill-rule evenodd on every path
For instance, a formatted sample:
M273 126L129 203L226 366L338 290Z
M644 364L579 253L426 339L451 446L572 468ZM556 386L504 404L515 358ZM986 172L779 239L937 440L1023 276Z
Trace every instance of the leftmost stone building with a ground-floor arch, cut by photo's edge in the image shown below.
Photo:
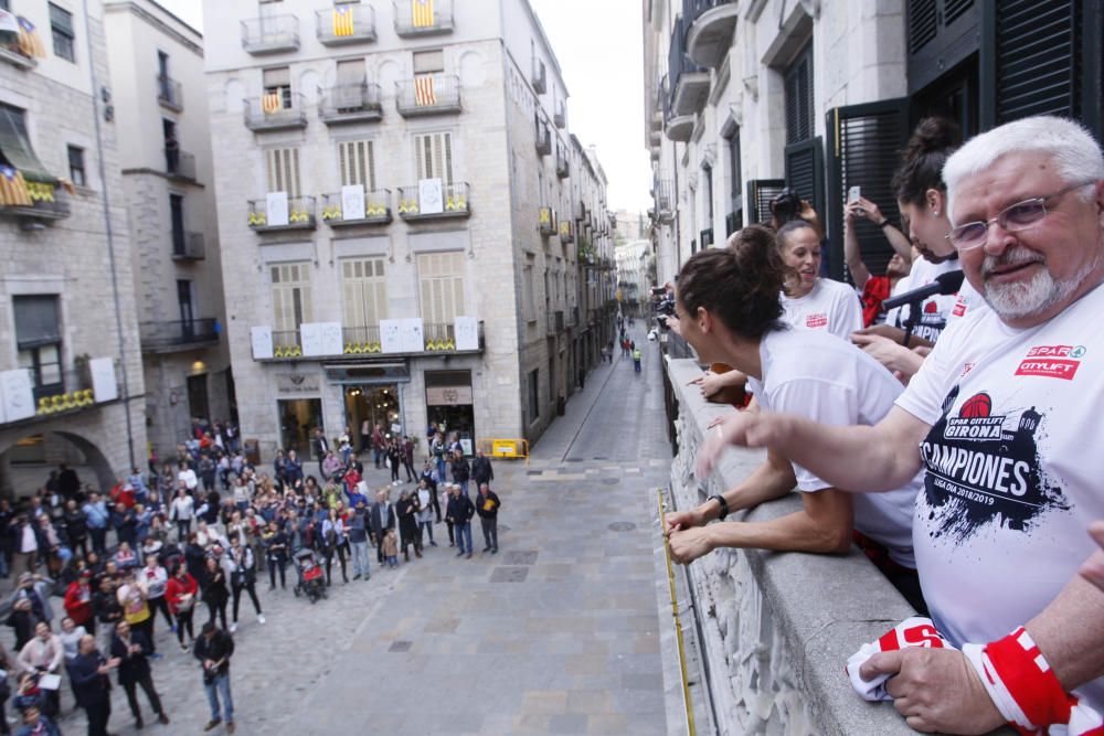
M60 461L109 487L145 465L146 427L103 7L3 8L21 31L0 35L0 490Z

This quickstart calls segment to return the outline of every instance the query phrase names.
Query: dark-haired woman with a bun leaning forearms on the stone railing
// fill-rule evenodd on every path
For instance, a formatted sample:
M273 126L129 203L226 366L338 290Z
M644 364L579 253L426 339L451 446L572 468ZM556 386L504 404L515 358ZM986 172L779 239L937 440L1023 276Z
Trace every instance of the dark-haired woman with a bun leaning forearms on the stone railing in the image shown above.
M877 424L893 407L901 384L851 343L786 324L778 301L786 277L769 231L760 226L741 231L731 247L698 253L682 267L676 287L682 337L702 361L724 362L750 376L767 410L832 425ZM858 530L878 551L875 562L919 605L912 514L921 482L917 473L894 491L851 494L768 451L757 470L723 495L667 514L671 555L689 563L716 547L841 554ZM795 484L800 511L765 522L704 526L730 511L782 498Z

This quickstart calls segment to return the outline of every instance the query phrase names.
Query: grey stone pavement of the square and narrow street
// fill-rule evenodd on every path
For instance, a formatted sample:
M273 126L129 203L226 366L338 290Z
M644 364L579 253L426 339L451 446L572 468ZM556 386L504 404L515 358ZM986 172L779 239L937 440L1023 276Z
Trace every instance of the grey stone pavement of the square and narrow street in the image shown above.
M439 524L424 558L373 566L368 582L336 574L317 605L268 591L262 574L267 623L244 600L235 634L238 734L667 733L652 555L671 455L658 348L634 337L643 373L628 359L604 364L528 467L496 461L499 554L479 552L476 520L473 559L455 556ZM201 733L197 662L158 627L153 679L172 723L153 723L139 694L144 733ZM84 733L83 713L62 726ZM135 733L119 687L112 730Z

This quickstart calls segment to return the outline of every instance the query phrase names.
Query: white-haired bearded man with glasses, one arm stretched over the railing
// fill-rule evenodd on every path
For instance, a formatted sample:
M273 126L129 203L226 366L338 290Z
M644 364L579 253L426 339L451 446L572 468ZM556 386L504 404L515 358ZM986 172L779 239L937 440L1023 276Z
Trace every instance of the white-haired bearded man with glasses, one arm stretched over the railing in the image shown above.
M920 578L956 649L881 652L859 675L890 675L896 707L923 730L984 733L1017 719L985 684L1001 669L1032 683L1021 710L1060 717L1050 704L1068 714L1070 694L1101 713L1104 598L1078 570L1095 551L1084 531L1104 518L1085 461L1104 452L1097 407L1085 401L1104 391L1104 372L1085 359L1104 350L1104 156L1078 124L1038 116L972 139L942 174L949 243L988 309L941 337L878 425L728 416L699 448L698 477L729 444L767 446L853 491L924 469ZM1048 358L1055 352L1061 360ZM1030 655L1017 644L1023 632Z

